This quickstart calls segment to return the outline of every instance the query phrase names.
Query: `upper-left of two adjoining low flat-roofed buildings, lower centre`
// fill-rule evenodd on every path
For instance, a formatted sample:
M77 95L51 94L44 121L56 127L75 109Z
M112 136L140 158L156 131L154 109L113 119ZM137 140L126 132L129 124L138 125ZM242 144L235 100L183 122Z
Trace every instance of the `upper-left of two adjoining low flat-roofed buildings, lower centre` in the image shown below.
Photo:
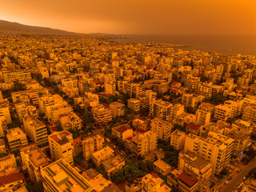
M102 162L105 162L107 159L114 157L114 150L109 146L102 148L92 154L93 162L96 166L101 166Z

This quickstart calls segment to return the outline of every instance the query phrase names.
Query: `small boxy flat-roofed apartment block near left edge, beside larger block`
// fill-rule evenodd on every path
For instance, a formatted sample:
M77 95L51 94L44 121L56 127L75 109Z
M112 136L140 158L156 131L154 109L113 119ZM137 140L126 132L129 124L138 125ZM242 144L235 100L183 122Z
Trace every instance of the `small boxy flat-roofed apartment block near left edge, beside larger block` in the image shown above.
M26 134L19 127L7 130L6 137L11 152L28 144Z

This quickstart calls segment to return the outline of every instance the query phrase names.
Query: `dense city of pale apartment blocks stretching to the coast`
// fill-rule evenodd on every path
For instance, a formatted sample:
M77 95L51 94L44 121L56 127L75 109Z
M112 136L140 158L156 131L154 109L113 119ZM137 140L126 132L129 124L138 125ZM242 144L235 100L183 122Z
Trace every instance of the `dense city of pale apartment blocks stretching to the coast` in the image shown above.
M256 190L256 57L0 36L0 191Z

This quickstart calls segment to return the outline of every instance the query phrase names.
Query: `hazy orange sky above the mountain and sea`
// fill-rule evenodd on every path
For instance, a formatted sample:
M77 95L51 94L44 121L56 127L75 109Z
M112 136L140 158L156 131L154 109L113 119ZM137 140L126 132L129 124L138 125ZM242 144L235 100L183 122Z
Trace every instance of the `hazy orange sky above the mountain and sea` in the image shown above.
M82 33L256 34L256 0L2 0L0 19Z

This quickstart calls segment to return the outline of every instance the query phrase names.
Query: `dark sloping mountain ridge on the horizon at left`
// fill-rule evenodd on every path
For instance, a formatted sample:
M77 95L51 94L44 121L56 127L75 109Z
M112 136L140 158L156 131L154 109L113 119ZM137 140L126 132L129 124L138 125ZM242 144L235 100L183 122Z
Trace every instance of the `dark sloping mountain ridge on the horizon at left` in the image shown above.
M56 30L42 26L26 26L18 22L0 20L0 33L14 34L52 34L52 35L84 35L66 30Z

